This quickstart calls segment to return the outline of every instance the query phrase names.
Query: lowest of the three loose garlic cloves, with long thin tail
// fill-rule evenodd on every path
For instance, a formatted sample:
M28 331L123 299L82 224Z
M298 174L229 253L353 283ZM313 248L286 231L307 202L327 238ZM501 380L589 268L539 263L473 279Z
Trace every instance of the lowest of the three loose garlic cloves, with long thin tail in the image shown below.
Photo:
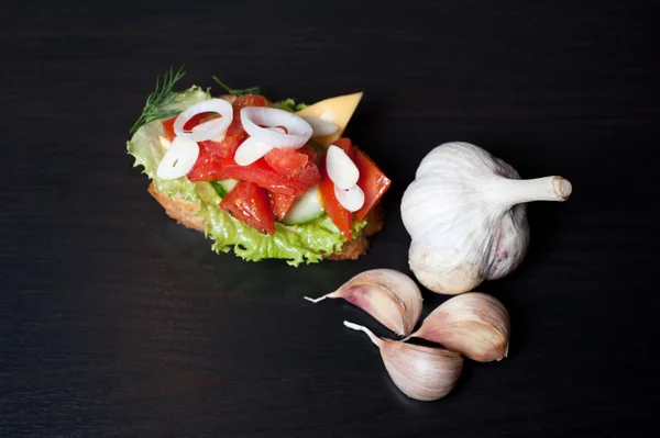
M461 371L461 355L441 348L424 347L400 340L381 339L369 328L344 321L354 330L366 333L381 350L381 357L394 384L410 398L429 402L453 390Z

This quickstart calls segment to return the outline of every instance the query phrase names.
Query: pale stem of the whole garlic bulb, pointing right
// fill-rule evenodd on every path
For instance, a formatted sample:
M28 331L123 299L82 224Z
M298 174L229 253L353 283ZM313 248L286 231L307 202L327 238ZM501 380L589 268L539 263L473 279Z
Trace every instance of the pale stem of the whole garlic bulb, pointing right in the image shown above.
M571 195L571 182L562 177L544 177L535 179L498 178L490 181L484 188L486 201L503 207L510 207L534 201L563 202Z

